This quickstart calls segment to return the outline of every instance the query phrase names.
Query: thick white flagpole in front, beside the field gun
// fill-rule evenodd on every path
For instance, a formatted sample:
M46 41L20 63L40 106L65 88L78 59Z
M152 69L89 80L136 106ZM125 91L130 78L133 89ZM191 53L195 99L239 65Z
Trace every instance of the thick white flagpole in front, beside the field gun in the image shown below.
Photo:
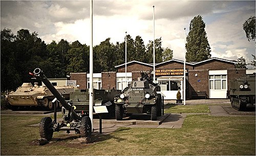
M89 117L92 122L93 129L93 0L90 1L90 33L91 33L91 44L90 44L90 89L89 89Z

